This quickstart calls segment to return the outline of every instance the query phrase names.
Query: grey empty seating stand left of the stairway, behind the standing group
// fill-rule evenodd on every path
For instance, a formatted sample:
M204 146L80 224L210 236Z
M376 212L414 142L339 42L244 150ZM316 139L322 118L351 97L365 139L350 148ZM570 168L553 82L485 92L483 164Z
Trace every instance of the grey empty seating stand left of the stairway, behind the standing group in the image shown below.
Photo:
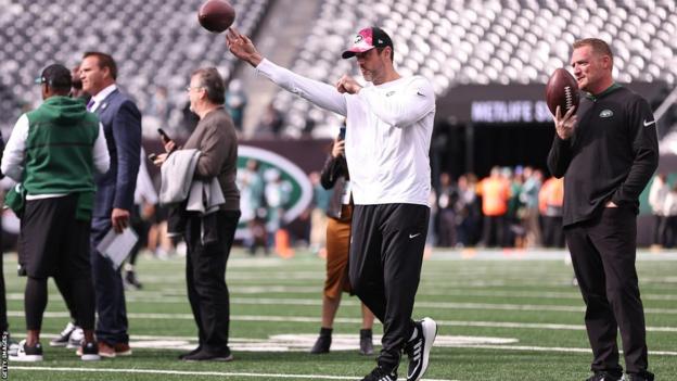
M0 0L0 122L8 136L23 106L39 103L34 79L52 61L75 65L82 52L110 52L119 84L144 110L156 86L186 103L188 75L219 63L229 78L234 60L221 35L197 23L203 0ZM238 27L253 35L269 0L230 0ZM177 107L180 109L180 107ZM173 118L180 118L176 110Z

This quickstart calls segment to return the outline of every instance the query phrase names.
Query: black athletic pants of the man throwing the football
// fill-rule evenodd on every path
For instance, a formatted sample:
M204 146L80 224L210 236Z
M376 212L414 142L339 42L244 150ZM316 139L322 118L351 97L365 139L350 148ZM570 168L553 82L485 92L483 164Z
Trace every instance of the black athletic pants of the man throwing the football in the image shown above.
M379 365L396 369L411 336L430 208L355 205L348 272L353 292L383 323Z

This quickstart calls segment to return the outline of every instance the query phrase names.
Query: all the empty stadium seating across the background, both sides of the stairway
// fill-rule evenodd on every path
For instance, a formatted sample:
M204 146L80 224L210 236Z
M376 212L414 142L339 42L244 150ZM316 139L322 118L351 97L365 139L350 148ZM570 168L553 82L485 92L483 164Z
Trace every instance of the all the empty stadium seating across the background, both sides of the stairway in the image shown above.
M255 33L269 2L232 0L237 24ZM35 104L33 79L53 59L75 63L81 52L111 51L120 63L122 85L142 109L153 88L167 87L176 104L186 75L218 62L226 78L234 61L222 37L195 22L202 0L0 0L0 113L8 128L24 104ZM571 43L599 36L615 50L615 74L623 82L677 82L677 4L672 0L322 0L314 27L291 67L311 78L332 81L353 73L352 61L338 59L355 31L382 25L395 40L395 61L403 75L432 80L438 96L455 85L545 84L566 65ZM279 110L288 112L286 135L302 135L314 119L315 136L334 134L341 120L314 111L305 101L280 91ZM180 117L177 111L174 119Z

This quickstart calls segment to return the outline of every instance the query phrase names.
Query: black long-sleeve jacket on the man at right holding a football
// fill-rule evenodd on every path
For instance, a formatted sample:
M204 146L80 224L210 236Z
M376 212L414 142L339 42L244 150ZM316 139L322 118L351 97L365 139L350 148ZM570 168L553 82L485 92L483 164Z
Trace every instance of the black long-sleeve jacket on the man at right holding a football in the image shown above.
M552 176L564 176L563 225L593 218L608 201L639 213L639 194L659 165L649 103L614 84L582 98L577 115L571 139L555 134L548 155Z

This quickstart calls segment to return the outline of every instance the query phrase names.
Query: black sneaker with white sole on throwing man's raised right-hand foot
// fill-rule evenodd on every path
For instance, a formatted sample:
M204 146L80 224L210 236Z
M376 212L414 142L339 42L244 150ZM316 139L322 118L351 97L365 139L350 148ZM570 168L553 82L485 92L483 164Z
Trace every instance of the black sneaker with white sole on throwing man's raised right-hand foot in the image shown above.
M405 344L405 353L409 356L407 381L419 381L427 369L430 350L437 335L437 323L426 317L414 322L416 336Z

